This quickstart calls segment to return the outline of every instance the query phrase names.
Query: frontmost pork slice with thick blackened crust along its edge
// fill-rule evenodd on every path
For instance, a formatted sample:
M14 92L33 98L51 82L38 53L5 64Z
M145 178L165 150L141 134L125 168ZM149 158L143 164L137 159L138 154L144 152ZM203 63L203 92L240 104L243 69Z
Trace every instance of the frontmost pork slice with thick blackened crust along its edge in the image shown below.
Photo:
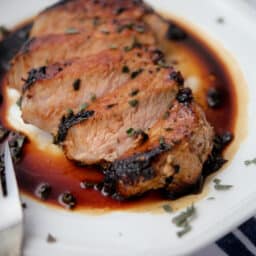
M212 150L213 129L195 103L175 102L166 119L150 129L148 141L105 170L105 192L123 197L163 188L177 196L195 185Z

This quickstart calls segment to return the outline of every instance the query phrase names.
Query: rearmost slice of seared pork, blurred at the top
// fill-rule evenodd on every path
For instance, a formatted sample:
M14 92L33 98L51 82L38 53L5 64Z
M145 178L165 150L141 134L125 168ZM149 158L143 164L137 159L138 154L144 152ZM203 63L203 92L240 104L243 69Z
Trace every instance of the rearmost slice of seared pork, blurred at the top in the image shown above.
M108 31L104 28L105 23L126 19L148 24L158 40L158 46L162 46L164 51L169 23L140 0L62 1L39 14L31 37L76 31L90 33L100 28Z

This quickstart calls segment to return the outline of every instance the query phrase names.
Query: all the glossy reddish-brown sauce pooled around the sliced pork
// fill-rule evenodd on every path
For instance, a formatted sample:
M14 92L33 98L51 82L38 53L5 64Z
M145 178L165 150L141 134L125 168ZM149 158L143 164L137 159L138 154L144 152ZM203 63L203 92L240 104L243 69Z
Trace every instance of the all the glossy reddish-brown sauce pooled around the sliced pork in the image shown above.
M26 40L30 26L30 24L26 24L23 28L18 28L4 42L0 43L0 74L4 74L9 60ZM181 35L179 34L180 31L183 33L182 37L179 37ZM185 28L180 31L177 27L175 38L166 42L167 49L168 47L172 49L170 56L167 55L167 58L172 59L173 64L177 65L177 69L184 73L185 78L189 73L186 72L187 64L183 65L182 61L176 63L172 52L176 52L175 57L182 56L185 53L186 58L192 58L193 64L198 65L200 69L204 84L204 87L200 88L200 91L195 94L196 100L204 107L207 119L214 126L217 133L233 132L236 122L236 95L227 68L210 48L200 41L200 38L197 38ZM1 92L3 91L2 87ZM217 102L218 99L220 99L219 103ZM208 106L209 101L210 104L213 102L213 105L217 102L217 105L211 108ZM1 105L0 113L1 122L8 127L4 115L6 106L7 104L4 102ZM52 155L40 151L31 142L25 144L23 158L15 169L20 189L23 193L35 199L46 199L39 199L35 192L40 185L49 185L50 191L45 202L51 205L59 205L58 198L65 192L70 192L76 198L78 209L124 209L163 200L160 193L150 192L136 200L119 202L110 197L104 197L92 187L84 189L81 187L81 182L86 180L87 182L97 183L102 180L103 175L96 169L77 166L68 161L64 155Z

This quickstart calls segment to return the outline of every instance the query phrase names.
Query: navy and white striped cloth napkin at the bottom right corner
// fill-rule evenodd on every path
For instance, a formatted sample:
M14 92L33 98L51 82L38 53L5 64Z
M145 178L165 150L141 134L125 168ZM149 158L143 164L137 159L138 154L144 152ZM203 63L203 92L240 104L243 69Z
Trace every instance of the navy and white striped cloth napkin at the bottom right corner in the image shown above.
M251 218L193 256L256 256L256 219Z

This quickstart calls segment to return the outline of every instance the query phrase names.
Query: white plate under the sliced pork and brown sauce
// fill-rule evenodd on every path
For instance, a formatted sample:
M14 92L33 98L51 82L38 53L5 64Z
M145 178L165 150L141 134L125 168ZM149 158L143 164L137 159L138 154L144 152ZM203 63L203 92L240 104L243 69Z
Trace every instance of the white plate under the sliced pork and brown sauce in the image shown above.
M1 0L0 23L14 25L52 2ZM216 200L196 203L198 217L193 221L193 230L182 239L177 238L172 216L166 213L113 212L93 216L54 210L25 199L25 256L185 255L213 242L256 211L255 167L244 165L244 160L256 156L256 12L234 0L149 2L207 31L235 56L244 73L249 100L240 102L239 108L245 109L248 103L248 134L229 166L219 174L224 183L233 184L234 188L218 192L211 185L209 196ZM225 25L216 22L219 16L225 17ZM240 92L246 90L240 88ZM57 243L46 242L48 233L57 237Z

